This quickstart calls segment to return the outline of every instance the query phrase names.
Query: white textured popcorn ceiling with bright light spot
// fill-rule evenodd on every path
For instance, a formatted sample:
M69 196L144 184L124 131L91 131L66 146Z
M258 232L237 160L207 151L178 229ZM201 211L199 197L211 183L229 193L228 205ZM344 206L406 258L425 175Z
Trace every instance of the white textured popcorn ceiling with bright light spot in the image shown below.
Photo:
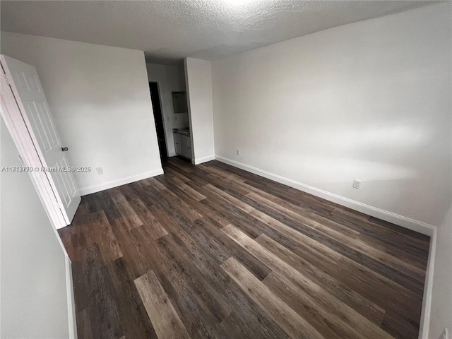
M148 62L218 59L432 1L1 1L1 30L140 49Z

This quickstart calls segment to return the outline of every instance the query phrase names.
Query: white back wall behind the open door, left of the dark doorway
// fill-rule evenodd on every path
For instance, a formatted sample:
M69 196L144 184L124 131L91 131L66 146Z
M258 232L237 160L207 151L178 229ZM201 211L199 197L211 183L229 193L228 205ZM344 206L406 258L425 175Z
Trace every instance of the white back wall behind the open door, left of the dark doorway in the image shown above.
M81 194L162 173L143 52L1 32L36 67ZM103 167L97 174L95 167Z

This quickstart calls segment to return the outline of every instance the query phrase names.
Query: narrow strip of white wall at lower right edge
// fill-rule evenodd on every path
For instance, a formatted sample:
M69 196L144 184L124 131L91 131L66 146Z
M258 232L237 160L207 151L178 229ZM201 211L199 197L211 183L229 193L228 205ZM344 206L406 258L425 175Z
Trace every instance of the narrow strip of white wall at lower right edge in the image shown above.
M439 338L445 327L452 333L452 206L436 234L432 290L428 338Z

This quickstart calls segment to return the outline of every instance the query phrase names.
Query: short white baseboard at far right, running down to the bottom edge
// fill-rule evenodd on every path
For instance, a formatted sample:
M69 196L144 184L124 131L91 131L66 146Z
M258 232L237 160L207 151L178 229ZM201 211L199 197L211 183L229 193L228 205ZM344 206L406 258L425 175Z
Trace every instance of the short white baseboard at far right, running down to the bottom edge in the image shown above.
M429 260L427 261L427 274L425 275L424 296L422 297L422 312L419 328L419 339L429 339L430 314L432 312L432 293L433 293L433 273L436 254L436 234L435 228L432 237L430 237Z

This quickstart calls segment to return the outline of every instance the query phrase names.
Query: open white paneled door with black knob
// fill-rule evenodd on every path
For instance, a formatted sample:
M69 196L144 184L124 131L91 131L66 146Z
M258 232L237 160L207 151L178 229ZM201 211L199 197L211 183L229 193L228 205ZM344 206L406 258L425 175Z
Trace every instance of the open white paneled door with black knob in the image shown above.
M81 198L73 178L73 168L65 156L67 149L61 144L36 69L4 55L1 55L1 66L8 85L11 86L23 123L30 133L32 146L40 157L44 168L40 170L44 171L42 173L49 180L56 199L55 207L61 209L66 225L69 225Z

